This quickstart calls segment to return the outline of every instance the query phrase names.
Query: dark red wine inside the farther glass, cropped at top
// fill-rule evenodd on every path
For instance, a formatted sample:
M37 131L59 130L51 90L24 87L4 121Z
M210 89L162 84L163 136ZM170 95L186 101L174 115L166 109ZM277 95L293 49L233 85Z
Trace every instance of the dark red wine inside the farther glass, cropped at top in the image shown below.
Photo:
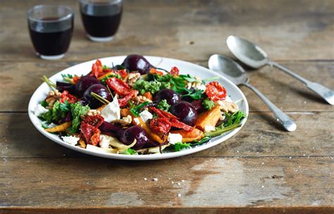
M116 34L121 16L122 10L119 13L104 16L81 13L86 32L92 37L111 37Z

